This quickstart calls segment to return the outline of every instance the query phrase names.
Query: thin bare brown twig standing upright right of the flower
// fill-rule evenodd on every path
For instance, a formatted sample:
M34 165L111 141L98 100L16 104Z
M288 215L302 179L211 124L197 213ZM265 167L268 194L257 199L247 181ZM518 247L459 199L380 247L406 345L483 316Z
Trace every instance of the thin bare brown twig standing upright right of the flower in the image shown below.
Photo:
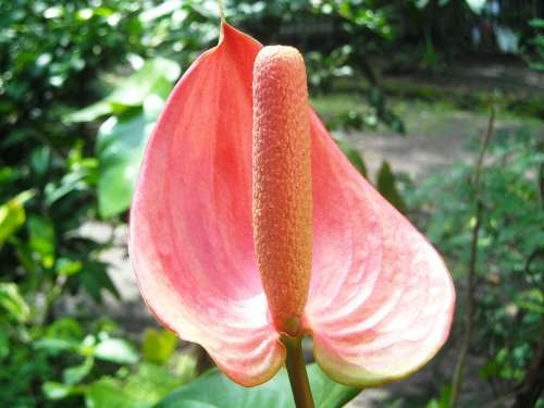
M487 146L490 144L491 137L493 135L493 126L495 123L495 107L491 103L490 110L490 121L487 122L487 129L480 145L480 152L478 154L478 160L475 163L475 174L473 178L473 187L475 194L475 223L472 228L472 238L470 243L470 259L469 259L469 270L467 275L467 320L465 326L465 335L462 337L461 350L459 353L459 358L457 359L457 364L455 367L454 379L452 381L452 397L449 399L449 407L454 408L457 405L459 398L459 392L462 386L462 381L465 376L465 367L467 364L467 357L469 354L470 343L472 339L472 332L474 330L474 318L477 311L477 305L474 299L475 294L475 281L477 281L477 263L478 263L478 240L480 237L480 228L482 225L483 215L483 202L481 199L481 184L480 180L482 176L483 160Z

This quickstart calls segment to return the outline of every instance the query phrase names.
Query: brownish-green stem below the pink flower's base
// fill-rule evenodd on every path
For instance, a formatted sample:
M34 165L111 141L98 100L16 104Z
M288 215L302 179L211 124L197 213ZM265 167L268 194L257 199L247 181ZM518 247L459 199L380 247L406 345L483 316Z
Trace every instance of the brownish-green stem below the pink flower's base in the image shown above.
M313 408L310 382L306 373L306 362L302 353L302 337L282 336L282 343L287 349L285 367L289 375L290 390L297 408Z

